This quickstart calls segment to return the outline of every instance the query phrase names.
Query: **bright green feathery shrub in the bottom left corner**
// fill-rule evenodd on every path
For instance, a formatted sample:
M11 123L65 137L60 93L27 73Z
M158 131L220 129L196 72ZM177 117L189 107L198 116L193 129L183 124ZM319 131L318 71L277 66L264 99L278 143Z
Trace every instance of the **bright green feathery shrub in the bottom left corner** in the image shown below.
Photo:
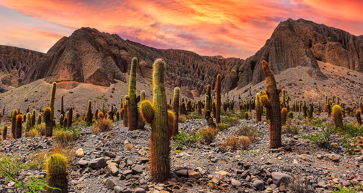
M29 168L39 165L35 164L23 164L15 157L7 157L0 155L0 174L6 181L15 182L15 188L20 189L21 192L37 193L45 192L46 189L60 190L58 188L52 188L46 184L47 178L45 177L29 177L29 181L23 183L17 173L26 172Z

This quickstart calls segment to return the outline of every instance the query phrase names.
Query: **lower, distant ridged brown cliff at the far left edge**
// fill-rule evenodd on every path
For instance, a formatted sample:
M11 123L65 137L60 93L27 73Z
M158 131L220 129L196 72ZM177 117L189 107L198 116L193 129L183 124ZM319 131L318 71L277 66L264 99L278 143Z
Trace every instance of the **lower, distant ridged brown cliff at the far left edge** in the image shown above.
M19 87L25 74L44 55L37 51L0 45L0 92L8 91L7 87Z

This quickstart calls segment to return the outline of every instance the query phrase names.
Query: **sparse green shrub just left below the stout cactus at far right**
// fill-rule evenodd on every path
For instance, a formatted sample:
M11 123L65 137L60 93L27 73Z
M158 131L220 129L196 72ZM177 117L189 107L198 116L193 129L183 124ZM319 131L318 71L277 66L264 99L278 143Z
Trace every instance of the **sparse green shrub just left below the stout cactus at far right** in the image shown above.
M314 142L318 146L327 147L334 140L334 127L322 127L322 131L314 134L309 134L305 138Z

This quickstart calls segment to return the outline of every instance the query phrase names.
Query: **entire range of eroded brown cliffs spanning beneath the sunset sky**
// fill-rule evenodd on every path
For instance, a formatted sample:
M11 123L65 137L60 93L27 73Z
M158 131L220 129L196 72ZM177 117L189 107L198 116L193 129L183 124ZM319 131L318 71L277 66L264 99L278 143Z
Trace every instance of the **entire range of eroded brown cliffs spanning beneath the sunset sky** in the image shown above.
M138 81L145 82L151 80L152 63L163 58L167 63L167 86L184 87L182 90L199 95L205 93L208 84L215 89L217 74L222 76L224 92L250 83L256 85L265 79L262 60L268 61L276 74L302 66L310 76L326 79L317 60L362 72L363 35L357 37L312 21L288 19L280 22L255 55L242 60L155 49L124 40L117 34L81 28L61 38L46 54L15 47L1 54L1 70L10 74L1 78L7 86L18 87L43 78L49 83L77 81L110 86L115 80L128 80L133 57L139 59Z

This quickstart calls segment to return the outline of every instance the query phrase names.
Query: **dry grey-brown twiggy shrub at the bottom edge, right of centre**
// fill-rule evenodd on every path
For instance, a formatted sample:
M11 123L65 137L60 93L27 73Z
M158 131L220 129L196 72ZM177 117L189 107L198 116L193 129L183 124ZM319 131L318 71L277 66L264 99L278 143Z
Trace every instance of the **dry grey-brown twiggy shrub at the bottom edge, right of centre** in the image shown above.
M313 193L315 192L315 189L312 182L314 181L307 176L294 176L287 178L286 183L284 184L286 184L286 189L290 192Z

